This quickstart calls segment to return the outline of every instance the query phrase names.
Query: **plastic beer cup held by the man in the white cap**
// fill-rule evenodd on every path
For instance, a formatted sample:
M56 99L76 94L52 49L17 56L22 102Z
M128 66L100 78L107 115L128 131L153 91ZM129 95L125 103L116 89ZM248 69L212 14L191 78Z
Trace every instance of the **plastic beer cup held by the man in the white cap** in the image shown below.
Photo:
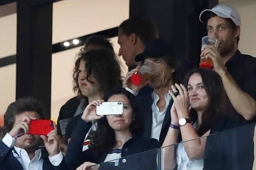
M213 45L216 49L220 45L220 40L215 37L204 36L202 37L202 46L201 51L208 45ZM202 68L213 68L213 60L211 58L205 58L204 56L201 57L199 66Z

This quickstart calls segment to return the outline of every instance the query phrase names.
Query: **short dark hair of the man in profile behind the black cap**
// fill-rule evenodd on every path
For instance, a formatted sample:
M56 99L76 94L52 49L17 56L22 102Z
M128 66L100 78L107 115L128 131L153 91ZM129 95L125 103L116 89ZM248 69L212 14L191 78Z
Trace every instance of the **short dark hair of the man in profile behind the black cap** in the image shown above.
M127 19L119 25L118 29L126 36L130 36L131 33L136 34L145 45L158 38L156 25L145 18Z

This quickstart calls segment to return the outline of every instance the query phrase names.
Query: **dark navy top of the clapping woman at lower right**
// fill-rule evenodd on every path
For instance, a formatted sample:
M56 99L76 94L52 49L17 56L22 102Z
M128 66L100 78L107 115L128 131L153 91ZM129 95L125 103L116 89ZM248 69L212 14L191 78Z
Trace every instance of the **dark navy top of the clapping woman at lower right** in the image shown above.
M214 123L212 135L207 136L203 170L253 168L255 124L241 125L229 117L221 117Z

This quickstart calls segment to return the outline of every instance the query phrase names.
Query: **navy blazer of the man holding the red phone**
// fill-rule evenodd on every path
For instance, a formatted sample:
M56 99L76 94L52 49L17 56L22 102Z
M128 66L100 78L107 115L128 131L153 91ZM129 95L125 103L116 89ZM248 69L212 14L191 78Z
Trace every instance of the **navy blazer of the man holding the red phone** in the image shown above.
M21 163L12 154L12 149L0 142L0 170L23 170ZM43 158L43 170L66 170L64 158L57 167L48 158Z

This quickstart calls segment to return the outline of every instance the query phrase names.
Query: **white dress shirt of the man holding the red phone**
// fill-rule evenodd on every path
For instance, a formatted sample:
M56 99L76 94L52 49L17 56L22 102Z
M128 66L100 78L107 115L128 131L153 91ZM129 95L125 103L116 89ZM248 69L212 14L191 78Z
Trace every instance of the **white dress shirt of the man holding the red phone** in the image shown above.
M43 169L43 158L41 150L35 150L35 157L30 160L28 153L26 150L22 148L18 148L14 146L16 142L16 138L12 138L10 134L6 133L3 137L2 141L3 143L8 146L9 148L13 148L12 154L17 160L21 163L24 170L42 170ZM63 155L62 152L58 153L55 156L49 156L50 163L54 166L59 166L62 162Z

